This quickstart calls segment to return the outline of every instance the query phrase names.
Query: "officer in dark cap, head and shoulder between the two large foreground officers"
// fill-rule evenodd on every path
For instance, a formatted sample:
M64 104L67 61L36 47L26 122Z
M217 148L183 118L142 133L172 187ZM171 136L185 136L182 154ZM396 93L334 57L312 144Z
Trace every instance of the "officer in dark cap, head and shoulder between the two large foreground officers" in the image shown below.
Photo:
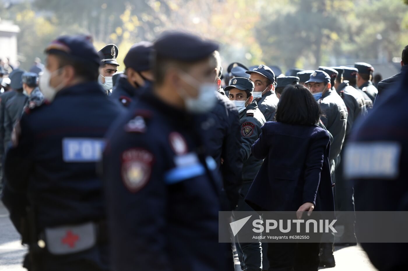
M118 84L113 89L112 99L119 101L124 107L129 107L140 96L145 85L153 81L152 55L151 42L139 42L130 48L123 60L125 71L120 75Z

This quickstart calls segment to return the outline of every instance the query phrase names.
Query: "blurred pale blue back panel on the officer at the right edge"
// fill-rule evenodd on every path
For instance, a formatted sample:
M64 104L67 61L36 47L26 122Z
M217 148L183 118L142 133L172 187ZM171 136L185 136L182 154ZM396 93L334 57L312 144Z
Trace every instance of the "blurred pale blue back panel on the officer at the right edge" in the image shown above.
M356 142L345 150L344 175L348 179L395 179L399 175L398 142Z

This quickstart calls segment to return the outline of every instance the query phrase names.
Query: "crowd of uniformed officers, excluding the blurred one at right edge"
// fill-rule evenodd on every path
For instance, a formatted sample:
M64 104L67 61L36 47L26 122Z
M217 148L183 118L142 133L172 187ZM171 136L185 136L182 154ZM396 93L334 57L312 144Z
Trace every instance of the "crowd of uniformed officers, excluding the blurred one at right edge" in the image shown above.
M244 198L263 163L251 146L288 85L306 86L320 105L336 210L355 210L343 150L373 110L373 67L223 70L217 50L168 32L132 46L120 67L116 45L96 52L89 37L62 36L37 73L1 68L2 201L29 244L24 267L233 269L218 212L251 210ZM344 232L355 239L353 226ZM334 242L321 244L321 266L335 266ZM268 270L266 249L237 243L242 269Z

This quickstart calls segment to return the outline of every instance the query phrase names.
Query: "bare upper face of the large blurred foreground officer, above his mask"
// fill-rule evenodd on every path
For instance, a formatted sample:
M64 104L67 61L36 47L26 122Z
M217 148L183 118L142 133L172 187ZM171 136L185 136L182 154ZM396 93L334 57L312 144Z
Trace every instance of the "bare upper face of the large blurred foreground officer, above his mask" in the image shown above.
M193 98L198 96L198 89L202 84L213 84L215 90L215 78L217 76L217 67L213 61L205 59L197 62L188 68L188 72L179 71L181 87L187 94ZM184 74L183 74L184 73Z

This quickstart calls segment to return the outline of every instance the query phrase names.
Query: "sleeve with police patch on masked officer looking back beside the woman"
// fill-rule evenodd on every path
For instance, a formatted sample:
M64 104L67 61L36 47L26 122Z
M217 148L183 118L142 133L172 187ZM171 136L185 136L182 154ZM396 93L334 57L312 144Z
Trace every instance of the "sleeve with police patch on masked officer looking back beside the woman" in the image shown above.
M259 138L259 132L256 127L257 120L255 118L243 118L241 120L240 135L242 139L241 144L241 159L245 163L251 155L251 147Z

